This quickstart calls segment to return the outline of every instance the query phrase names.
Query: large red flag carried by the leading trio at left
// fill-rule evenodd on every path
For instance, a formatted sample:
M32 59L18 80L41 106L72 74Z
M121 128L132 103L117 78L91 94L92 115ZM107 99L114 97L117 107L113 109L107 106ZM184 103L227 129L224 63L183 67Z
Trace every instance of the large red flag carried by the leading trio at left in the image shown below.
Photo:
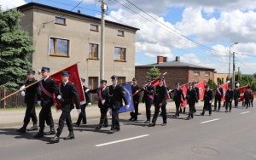
M78 64L74 64L73 66L68 66L67 68L65 68L61 71L58 71L55 74L51 75L50 77L55 79L55 81L57 83L57 86L60 89L60 84L62 83L61 73L64 70L69 71L71 73L71 77L69 77L69 82L73 83L74 86L76 87L76 89L78 89L80 103L84 104L86 101L85 101L85 97L84 97L84 89L83 89L83 86L81 84L81 80L80 80L80 76L79 76ZM55 97L54 101L55 101L56 110L60 110L61 109L61 104L59 103L59 100L56 100L56 97Z

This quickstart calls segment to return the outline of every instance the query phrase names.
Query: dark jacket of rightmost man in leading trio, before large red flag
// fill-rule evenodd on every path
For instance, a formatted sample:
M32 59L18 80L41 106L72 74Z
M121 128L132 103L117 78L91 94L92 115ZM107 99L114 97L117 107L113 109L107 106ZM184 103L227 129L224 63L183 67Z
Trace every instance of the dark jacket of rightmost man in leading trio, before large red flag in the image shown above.
M80 109L79 93L73 83L67 82L64 86L63 83L60 84L61 92L61 111L71 111L76 105L77 109ZM74 100L74 101L73 101Z

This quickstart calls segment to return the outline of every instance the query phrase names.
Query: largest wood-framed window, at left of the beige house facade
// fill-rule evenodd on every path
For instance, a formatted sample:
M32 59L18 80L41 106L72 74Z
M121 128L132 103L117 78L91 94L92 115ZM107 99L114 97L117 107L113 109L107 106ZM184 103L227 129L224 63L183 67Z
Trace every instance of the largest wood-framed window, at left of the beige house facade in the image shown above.
M69 40L50 37L49 54L58 56L68 56Z

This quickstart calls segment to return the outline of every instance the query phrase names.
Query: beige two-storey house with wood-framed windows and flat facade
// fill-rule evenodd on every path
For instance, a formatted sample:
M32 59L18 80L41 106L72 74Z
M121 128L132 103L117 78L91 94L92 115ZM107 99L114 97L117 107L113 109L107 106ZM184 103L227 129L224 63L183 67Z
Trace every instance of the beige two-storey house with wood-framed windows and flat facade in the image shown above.
M101 19L39 3L26 3L18 9L24 14L20 26L32 36L34 70L48 66L54 73L79 62L86 84L91 89L99 85ZM104 79L108 83L113 74L120 77L120 83L134 77L137 30L105 20Z

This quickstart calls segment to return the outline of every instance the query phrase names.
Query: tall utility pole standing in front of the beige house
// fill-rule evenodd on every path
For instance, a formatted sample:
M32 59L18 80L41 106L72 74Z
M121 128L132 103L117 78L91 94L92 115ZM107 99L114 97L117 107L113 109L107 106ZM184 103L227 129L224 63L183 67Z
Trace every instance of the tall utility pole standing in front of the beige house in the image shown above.
M100 66L100 79L104 79L104 43L105 43L105 12L108 6L102 0L102 27L101 27L101 66ZM101 81L101 80L100 80Z

